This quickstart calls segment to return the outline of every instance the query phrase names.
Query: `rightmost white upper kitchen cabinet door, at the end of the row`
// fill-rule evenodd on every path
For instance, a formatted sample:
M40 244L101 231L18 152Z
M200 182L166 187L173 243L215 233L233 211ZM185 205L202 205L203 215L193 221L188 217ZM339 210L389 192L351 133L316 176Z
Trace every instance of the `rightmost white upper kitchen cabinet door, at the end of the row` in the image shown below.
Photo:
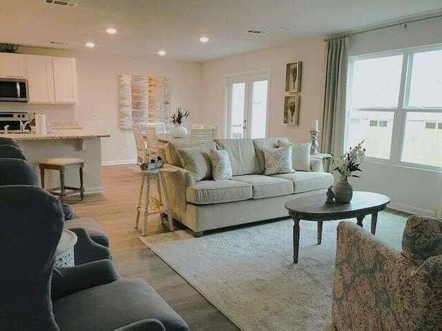
M55 103L77 102L77 68L75 59L52 58L54 68Z

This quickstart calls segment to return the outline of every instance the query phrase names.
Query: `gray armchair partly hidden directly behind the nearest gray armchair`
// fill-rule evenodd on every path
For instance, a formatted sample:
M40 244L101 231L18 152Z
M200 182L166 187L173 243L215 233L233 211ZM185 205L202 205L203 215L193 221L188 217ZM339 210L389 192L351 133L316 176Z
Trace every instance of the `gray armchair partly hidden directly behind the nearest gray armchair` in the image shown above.
M37 172L32 164L22 159L0 159L0 186L39 185ZM75 264L98 259L110 259L108 239L93 219L77 219L70 205L63 204L64 227L78 237L74 248Z

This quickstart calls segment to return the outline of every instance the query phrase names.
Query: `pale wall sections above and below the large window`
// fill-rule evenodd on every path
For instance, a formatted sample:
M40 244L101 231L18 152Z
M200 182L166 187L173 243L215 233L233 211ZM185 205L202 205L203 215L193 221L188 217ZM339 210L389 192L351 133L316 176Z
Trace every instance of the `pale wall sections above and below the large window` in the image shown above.
M358 34L349 40L349 55L368 54L442 43L442 19ZM441 146L434 146L441 148ZM361 179L352 179L356 190L382 192L392 197L398 210L439 216L442 174L430 170L365 162ZM440 211L439 211L440 213Z

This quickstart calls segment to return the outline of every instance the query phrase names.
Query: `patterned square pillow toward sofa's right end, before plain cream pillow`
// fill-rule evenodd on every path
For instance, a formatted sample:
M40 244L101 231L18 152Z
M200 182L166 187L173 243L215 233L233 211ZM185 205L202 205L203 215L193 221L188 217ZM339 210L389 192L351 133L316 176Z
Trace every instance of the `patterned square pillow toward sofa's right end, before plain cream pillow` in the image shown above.
M264 174L287 174L295 172L291 168L291 149L292 146L280 148L263 148L264 153Z

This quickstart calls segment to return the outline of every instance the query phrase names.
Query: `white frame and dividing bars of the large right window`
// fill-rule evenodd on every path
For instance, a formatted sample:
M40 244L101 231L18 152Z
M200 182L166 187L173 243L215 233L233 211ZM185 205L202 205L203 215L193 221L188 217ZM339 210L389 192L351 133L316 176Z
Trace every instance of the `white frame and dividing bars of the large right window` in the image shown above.
M403 141L405 137L405 124L408 112L441 112L442 108L437 107L409 107L408 99L410 96L410 83L412 73L412 58L415 53L430 52L432 50L442 50L442 44L435 44L430 46L419 46L414 48L404 48L401 50L392 50L387 52L378 52L372 54L355 55L348 59L348 74L347 74L347 109L346 109L346 121L345 121L345 139L344 149L347 148L347 137L349 131L349 115L352 110L354 111L371 111L371 112L393 112L393 132L392 142L390 149L390 159L381 159L376 157L366 157L367 161L374 161L377 163L387 163L392 165L403 165L411 168L419 168L425 170L442 171L442 165L440 167L434 165L425 165L421 163L410 163L401 161L403 152ZM394 55L403 55L401 83L399 87L398 106L397 107L372 107L372 108L357 108L352 106L352 88L350 84L353 81L353 68L354 62L357 60L376 59L378 57L391 57Z

